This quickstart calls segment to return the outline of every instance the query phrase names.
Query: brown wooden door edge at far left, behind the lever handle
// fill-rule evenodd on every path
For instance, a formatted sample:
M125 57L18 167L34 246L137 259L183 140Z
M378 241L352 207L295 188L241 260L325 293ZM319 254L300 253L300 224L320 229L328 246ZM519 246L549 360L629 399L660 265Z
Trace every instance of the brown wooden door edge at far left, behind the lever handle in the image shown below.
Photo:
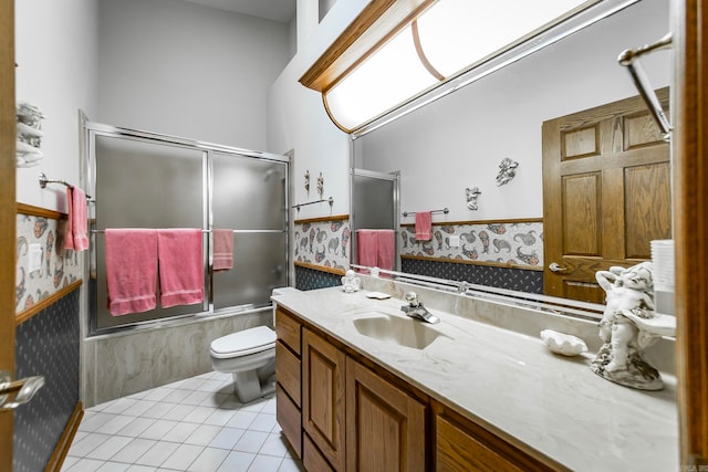
M14 1L0 0L0 370L14 376ZM13 377L14 378L14 377ZM12 470L12 412L0 411L0 470Z

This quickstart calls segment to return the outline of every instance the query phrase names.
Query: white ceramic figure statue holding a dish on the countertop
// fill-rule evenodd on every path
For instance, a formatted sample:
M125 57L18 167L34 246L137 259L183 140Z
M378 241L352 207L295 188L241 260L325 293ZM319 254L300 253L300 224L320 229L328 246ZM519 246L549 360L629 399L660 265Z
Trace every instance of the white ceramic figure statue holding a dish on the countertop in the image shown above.
M675 318L654 312L652 263L613 266L597 271L595 279L607 294L607 303L600 322L604 345L591 369L626 387L660 390L659 373L643 358L643 352L659 336L675 331Z

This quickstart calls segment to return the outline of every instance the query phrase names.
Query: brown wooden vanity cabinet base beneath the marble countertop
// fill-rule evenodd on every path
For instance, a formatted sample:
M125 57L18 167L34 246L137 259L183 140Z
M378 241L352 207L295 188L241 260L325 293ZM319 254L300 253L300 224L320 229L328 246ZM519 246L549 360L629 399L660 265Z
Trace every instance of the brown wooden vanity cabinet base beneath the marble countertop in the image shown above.
M510 444L282 308L275 331L278 422L309 472L568 470Z

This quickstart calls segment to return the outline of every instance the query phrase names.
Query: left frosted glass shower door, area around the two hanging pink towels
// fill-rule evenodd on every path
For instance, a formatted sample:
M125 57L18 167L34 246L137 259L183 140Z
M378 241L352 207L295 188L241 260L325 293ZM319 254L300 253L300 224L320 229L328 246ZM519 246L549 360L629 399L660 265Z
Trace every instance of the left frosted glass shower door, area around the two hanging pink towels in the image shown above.
M94 228L97 231L92 234L96 258L96 276L93 280L96 284L95 329L114 328L208 310L205 300L202 304L169 308L158 306L144 313L112 316L106 307L105 233L103 232L106 228L205 229L206 161L207 153L196 148L131 139L124 136L95 136ZM206 234L202 241L204 259L206 259L208 248Z

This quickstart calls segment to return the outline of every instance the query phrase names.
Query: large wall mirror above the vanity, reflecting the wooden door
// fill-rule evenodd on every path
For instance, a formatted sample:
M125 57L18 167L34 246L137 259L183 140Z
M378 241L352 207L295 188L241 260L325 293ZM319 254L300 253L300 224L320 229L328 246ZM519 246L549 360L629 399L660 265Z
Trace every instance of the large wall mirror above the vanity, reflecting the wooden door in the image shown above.
M605 266L646 260L649 240L671 238L669 144L617 62L622 51L669 32L669 0L638 1L353 139L353 168L399 172L402 271L601 303L604 293L572 274L592 279ZM642 62L668 109L673 52ZM576 174L555 190L549 146L576 158ZM606 161L587 164L605 151L621 162L612 172ZM499 185L504 159L517 164L516 176ZM477 209L466 198L473 187ZM548 197L551 190L558 196ZM352 199L352 214L365 213L357 201L365 200ZM618 209L610 213L608 203ZM410 213L445 208L433 214L430 241L413 238ZM549 260L559 225L570 254ZM553 262L560 271L549 270Z

